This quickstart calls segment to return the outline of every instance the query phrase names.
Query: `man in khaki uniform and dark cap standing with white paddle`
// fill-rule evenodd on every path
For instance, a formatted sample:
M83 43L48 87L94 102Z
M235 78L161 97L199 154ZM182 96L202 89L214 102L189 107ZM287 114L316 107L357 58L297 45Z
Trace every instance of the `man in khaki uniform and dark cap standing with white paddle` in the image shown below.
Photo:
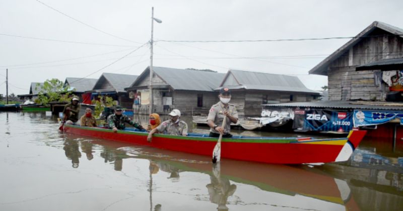
M207 124L210 128L210 137L219 137L220 133L223 137L232 137L230 133L231 122L238 122L238 112L236 111L235 105L230 104L231 91L227 87L223 87L220 90L220 102L214 104L207 117ZM226 124L224 128L222 127L224 116L227 116Z

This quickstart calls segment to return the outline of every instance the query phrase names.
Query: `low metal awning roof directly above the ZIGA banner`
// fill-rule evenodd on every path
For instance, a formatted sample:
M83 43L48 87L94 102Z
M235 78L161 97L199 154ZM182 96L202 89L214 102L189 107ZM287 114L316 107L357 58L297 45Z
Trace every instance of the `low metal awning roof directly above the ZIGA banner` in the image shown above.
M403 104L401 106L395 106L397 103L393 102L378 102L383 105L362 105L353 104L359 103L355 101L340 101L340 100L328 100L328 101L316 101L316 102L298 102L298 103L279 103L279 104L265 104L265 107L309 107L309 108L333 108L333 109L368 109L368 110L403 110ZM376 104L375 102L371 102ZM387 106L390 104L391 106Z

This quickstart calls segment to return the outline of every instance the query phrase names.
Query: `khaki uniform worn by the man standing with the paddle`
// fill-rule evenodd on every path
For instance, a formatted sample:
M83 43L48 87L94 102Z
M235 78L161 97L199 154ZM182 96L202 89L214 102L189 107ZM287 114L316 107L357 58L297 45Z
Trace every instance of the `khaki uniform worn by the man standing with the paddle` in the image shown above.
M228 107L225 108L222 102L218 102L217 104L214 104L211 107L207 120L212 120L214 124L221 127L223 125L225 110L227 110L231 116L238 119L238 111L236 111L234 104L228 103ZM231 130L231 120L230 118L227 118L227 122L225 123L224 127L224 134L229 134L230 130ZM213 128L210 128L210 132L220 133L219 131Z

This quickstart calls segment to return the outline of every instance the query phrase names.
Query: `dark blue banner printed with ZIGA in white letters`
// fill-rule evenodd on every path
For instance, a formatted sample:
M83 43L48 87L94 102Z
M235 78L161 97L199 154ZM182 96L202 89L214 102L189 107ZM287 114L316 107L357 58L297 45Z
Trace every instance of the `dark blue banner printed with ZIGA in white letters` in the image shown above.
M347 132L353 128L353 113L310 109L305 111L304 129Z

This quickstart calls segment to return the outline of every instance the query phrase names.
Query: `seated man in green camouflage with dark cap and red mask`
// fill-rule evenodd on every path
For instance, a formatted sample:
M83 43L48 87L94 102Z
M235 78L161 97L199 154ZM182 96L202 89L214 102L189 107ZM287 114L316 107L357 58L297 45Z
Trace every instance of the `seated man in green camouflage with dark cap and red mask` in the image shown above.
M125 123L131 124L138 129L143 129L143 126L135 121L132 121L126 115L122 114L122 107L116 106L115 113L108 116L106 122L108 123L109 129L116 132L118 129L122 130L126 127Z

